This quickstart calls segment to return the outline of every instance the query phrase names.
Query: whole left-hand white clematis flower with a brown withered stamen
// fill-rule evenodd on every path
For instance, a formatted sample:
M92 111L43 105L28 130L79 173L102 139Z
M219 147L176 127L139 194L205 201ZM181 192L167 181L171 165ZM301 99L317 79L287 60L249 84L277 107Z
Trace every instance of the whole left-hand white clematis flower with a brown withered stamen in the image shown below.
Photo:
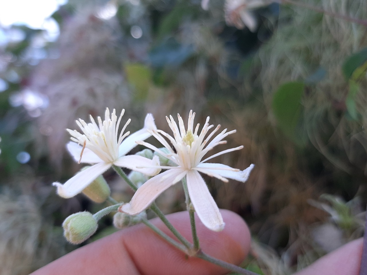
M94 165L77 173L64 184L59 182L52 183L52 185L57 187L57 193L61 197L71 198L79 194L112 165L136 170L148 176L154 176L160 172L158 167L137 168L137 166L144 165L159 165L157 157L151 160L138 155L126 155L132 148L137 146L136 140L147 139L152 135L151 131L157 129L153 115L147 114L144 127L129 136L130 132L124 133L124 131L127 125L130 124L130 119L123 126L120 134L118 133L124 112L125 110L123 109L117 120L116 110L113 109L110 117L110 111L107 108L105 120L102 122L101 117L98 117L98 125L90 116L91 123L87 124L82 119L76 121L82 133L77 130L67 129L72 136L70 138L72 142L69 142L66 148L75 161Z

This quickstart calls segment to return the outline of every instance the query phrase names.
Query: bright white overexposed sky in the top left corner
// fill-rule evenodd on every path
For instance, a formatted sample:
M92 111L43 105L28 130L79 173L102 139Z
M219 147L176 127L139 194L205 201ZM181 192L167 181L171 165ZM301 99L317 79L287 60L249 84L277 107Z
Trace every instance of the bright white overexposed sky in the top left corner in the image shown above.
M45 19L67 0L0 0L0 25L26 24L33 29L46 29Z

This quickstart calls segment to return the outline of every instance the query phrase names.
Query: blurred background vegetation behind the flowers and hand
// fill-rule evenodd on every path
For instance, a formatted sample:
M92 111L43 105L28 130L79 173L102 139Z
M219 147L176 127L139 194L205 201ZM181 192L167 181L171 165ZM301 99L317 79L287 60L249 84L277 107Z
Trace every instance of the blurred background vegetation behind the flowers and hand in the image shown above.
M209 115L237 129L226 146L244 149L217 161L254 163L250 179L206 181L219 207L248 222L252 271L288 274L363 234L367 31L348 18L367 18L366 1L303 1L326 13L282 1L247 11L240 4L251 1L239 2L203 10L197 0L70 0L52 15L57 41L26 26L2 30L1 274L28 274L75 249L63 241L63 219L102 207L58 198L50 184L80 169L65 151L65 128L106 107L125 108L130 131L147 112L168 131L165 116L190 109L201 124ZM237 29L241 12L252 12L254 32ZM105 178L116 199L129 199L112 171ZM171 187L158 203L182 210L182 194ZM106 217L98 235L111 224Z

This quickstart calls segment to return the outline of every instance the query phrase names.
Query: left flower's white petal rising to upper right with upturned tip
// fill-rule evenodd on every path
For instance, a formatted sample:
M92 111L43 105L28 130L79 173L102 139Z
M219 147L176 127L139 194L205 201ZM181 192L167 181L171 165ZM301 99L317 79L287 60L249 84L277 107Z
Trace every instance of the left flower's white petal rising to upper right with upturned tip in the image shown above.
M138 144L135 143L138 140L146 140L148 137L150 137L152 134L148 133L149 131L156 130L157 126L154 123L154 118L152 114L147 114L144 120L144 127L140 129L139 131L132 133L130 136L126 137L121 144L119 148L119 155L123 156L126 155L128 152L131 151L132 148L137 146Z

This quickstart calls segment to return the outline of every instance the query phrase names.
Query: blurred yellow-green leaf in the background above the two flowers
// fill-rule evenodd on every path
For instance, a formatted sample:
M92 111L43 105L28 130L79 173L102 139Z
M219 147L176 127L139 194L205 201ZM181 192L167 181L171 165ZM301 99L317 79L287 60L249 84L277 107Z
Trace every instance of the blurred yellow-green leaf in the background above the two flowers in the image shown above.
M134 99L146 99L152 80L149 67L140 63L128 63L125 65L125 72L128 83L135 89Z

